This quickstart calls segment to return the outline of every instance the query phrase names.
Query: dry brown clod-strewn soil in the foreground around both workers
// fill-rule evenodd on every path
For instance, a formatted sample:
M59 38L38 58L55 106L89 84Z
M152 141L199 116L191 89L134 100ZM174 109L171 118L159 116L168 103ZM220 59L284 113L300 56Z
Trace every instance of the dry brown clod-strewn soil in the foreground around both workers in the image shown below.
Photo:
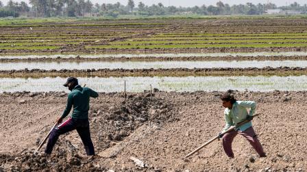
M224 126L221 92L99 94L91 100L90 130L96 156L86 157L73 131L60 137L51 157L33 155L65 104L64 93L0 94L0 171L306 171L306 91L238 92L258 103L253 121L267 158L241 136L235 158L221 141L183 157ZM137 158L139 166L131 160Z

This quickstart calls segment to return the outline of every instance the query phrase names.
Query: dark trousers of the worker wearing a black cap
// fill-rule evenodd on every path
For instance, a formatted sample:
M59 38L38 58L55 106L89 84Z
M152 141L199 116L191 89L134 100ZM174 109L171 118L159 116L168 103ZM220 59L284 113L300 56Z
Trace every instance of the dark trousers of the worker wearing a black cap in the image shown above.
M93 142L90 139L90 123L88 122L88 119L74 119L74 118L67 119L62 124L60 124L60 126L54 128L51 131L47 147L45 148L45 153L51 154L53 146L56 145L56 141L58 141L60 135L75 129L77 130L79 136L82 139L86 154L88 156L94 155L95 150Z

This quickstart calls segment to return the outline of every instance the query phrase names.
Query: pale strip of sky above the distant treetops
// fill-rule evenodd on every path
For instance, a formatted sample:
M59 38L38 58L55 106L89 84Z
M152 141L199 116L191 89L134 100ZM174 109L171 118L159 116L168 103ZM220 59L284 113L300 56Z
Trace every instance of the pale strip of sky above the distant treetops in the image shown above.
M0 0L2 3L4 3L5 5L8 3L9 0ZM13 1L25 1L27 3L29 3L29 0L13 0ZM123 5L127 5L127 1L128 0L90 0L93 3L121 3ZM215 5L219 0L134 0L134 3L137 4L142 1L143 3L145 3L145 5L152 5L154 4L158 4L158 3L163 3L164 6L169 6L169 5L174 5L174 6L182 6L182 7L193 7L195 5L197 6L201 6L201 5ZM221 0L223 3L228 3L230 5L234 5L234 4L240 4L240 3L247 3L247 2L251 2L254 4L257 3L267 3L268 0ZM295 2L295 0L290 1L290 0L269 0L270 3L275 3L278 6L282 6L282 5L289 5L293 2ZM296 0L297 3L304 5L305 3L307 3L307 0Z

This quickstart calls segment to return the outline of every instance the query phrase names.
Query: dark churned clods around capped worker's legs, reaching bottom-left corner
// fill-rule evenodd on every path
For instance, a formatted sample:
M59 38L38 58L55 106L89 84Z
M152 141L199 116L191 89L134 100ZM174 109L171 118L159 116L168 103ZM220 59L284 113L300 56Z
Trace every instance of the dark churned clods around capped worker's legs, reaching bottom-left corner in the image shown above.
M123 141L149 121L162 125L175 120L172 104L158 98L151 100L149 96L132 95L119 106L92 109L90 128L97 153L112 147L114 142ZM34 155L34 149L24 149L18 154L0 154L0 171L107 171L108 167L99 164L100 158L84 156L83 146L73 145L69 139L60 137L51 156L43 152Z

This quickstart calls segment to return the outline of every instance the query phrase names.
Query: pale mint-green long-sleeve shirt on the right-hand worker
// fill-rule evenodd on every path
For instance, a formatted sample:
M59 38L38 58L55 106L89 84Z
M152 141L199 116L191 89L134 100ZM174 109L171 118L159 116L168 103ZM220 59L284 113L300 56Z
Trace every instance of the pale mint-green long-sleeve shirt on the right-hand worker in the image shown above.
M250 108L249 113L247 108ZM226 108L224 111L226 125L223 131L228 130L230 126L236 125L247 118L247 115L252 116L255 113L256 102L253 101L236 101L232 104L232 109ZM251 127L251 121L238 127L238 130L245 131Z

